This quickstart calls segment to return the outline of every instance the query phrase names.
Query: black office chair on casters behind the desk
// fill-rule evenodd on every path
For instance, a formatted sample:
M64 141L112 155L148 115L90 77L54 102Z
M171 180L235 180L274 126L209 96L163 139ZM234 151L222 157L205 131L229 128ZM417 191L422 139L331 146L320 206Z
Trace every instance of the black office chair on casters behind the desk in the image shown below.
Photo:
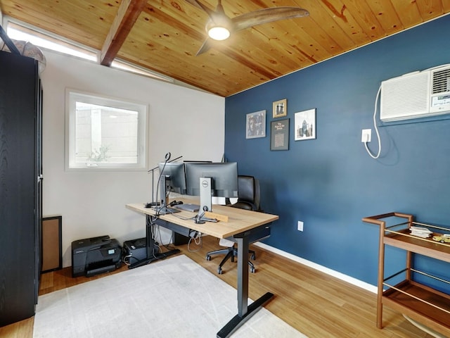
M238 201L235 204L230 204L229 200L227 200L227 205L233 208L246 209L251 211L262 211L259 208L259 180L257 180L253 176L239 175L238 176ZM206 254L206 260L211 261L211 256L216 254L225 254L226 256L219 264L217 268L217 273L221 275L222 266L226 261L231 258L231 261L234 262L234 258L238 256L238 248L236 247L236 243L231 239L221 239L219 244L221 246L227 246L226 249L220 249L215 251L210 251ZM255 251L249 250L250 258L255 260ZM255 273L255 265L248 261L248 265L250 265L250 272Z

